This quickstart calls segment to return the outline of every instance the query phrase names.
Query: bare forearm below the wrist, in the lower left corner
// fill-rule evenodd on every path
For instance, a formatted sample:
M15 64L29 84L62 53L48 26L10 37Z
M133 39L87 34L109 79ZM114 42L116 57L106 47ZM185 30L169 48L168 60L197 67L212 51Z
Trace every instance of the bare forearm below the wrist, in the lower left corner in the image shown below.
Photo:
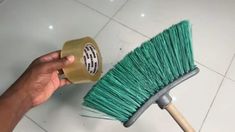
M26 93L14 87L9 88L0 96L0 131L11 132L31 106Z

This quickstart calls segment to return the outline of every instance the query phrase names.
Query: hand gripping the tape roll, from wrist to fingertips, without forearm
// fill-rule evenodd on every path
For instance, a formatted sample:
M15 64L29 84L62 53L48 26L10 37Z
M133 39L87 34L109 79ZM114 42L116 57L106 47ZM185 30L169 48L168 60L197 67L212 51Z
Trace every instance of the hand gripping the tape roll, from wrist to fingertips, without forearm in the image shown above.
M30 64L11 88L29 97L32 107L42 104L59 87L70 84L67 79L60 79L58 74L73 61L74 56L60 59L60 51L43 55Z

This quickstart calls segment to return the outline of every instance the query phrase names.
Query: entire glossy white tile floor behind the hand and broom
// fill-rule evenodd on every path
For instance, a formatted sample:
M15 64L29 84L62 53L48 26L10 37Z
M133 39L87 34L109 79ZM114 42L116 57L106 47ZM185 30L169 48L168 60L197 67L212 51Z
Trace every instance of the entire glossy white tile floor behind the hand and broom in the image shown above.
M0 94L34 58L61 49L66 40L94 37L106 72L144 40L189 19L201 71L171 92L174 103L197 131L234 131L234 7L234 0L0 0ZM91 86L58 90L29 111L14 132L181 131L157 105L128 129L117 121L80 117Z

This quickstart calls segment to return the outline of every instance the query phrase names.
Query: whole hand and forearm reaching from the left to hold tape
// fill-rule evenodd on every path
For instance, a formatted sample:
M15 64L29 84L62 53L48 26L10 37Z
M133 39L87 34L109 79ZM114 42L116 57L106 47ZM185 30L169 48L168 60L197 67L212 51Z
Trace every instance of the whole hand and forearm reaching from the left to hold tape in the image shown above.
M73 61L74 56L61 59L60 51L34 60L0 96L0 131L12 131L29 109L47 101L59 87L70 84L67 79L60 79L58 74Z

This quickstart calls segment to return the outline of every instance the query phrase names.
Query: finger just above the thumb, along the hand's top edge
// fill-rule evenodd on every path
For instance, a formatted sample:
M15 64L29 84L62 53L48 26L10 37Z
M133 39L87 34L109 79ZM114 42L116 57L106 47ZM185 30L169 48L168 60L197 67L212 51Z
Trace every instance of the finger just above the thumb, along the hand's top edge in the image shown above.
M48 53L46 55L43 55L41 57L39 57L39 60L41 62L49 62L49 61L53 61L53 60L57 60L60 58L60 50Z

